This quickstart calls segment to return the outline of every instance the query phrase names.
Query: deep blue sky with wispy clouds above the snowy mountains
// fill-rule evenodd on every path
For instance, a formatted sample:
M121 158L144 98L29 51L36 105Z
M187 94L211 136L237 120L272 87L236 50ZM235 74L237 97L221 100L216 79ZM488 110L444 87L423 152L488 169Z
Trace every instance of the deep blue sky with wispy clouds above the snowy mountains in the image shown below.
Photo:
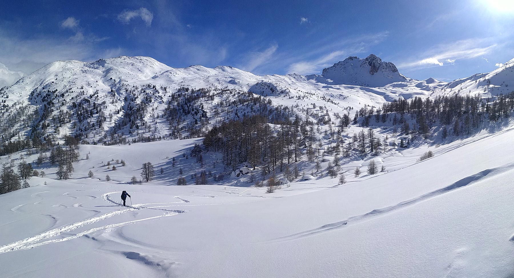
M451 81L514 58L511 0L3 1L0 63L151 56L171 67L321 73L374 53L408 77Z

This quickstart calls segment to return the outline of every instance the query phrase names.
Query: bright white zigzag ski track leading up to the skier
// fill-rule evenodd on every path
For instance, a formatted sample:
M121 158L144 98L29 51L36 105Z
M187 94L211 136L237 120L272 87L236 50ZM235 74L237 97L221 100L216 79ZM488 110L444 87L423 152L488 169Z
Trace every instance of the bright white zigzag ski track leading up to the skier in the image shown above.
M48 191L45 191L45 192L48 192ZM35 194L32 194L32 196L38 196L38 194L40 194L40 193L44 193L44 192L35 193ZM107 203L113 203L113 204L122 206L121 203L118 203L118 202L114 201L113 198L111 198L111 194L114 194L114 193L121 193L121 192L117 191L117 192L105 193L102 195L102 200L104 200ZM68 196L68 197L75 197L75 196L67 195L67 193L64 193L62 195ZM77 197L75 197L75 198L77 198ZM57 243L57 242L63 242L63 241L68 241L68 240L72 240L72 239L77 239L78 237L81 237L83 235L86 235L86 234L89 234L89 233L92 233L92 232L95 232L98 230L102 230L102 229L121 227L121 226L125 226L128 224L134 224L134 223L146 221L146 220L155 220L155 219L159 219L161 217L173 216L173 215L177 215L179 213L186 212L185 210L171 210L171 209L161 208L161 207L169 207L169 206L158 206L158 207L146 207L145 206L145 205L152 205L152 204L154 204L154 203L136 204L134 206L127 206L128 209L121 209L121 210L116 210L116 211L112 211L112 212L107 212L107 213L104 213L104 214L96 216L96 217L91 217L91 218L83 220L83 221L79 221L79 222L76 222L76 223L73 223L70 225L62 226L62 227L59 227L56 229L52 229L52 230L40 233L38 235L34 235L32 237L28 237L27 239L23 239L23 240L16 241L16 242L13 242L10 244L6 244L4 246L0 246L0 254L6 253L6 252L11 252L11 251L30 249L30 248L34 248L34 247L38 247L38 246L42 246L42 245L46 245L46 244L51 244L51 243ZM163 204L163 203L155 203L155 204ZM59 205L61 205L61 204L59 204ZM16 208L17 207L15 207L13 209L16 209ZM135 211L135 210L143 210L143 209L160 210L164 214L158 215L158 216L146 217L144 219L139 219L139 220L133 220L133 221L127 221L127 222L115 223L115 224L108 224L108 225L104 225L104 226L100 226L100 227L96 227L96 228L91 228L86 231L64 237L62 239L47 240L47 239L50 239L51 237L59 236L63 233L76 230L76 229L84 227L86 225L94 224L96 222L108 219L108 218L116 216L116 215L120 215L120 214L123 214L126 212ZM52 217L52 218L54 220L56 220L54 217ZM57 221L55 223L57 223ZM47 241L40 242L43 240L47 240ZM40 242L40 243L36 243L36 242Z

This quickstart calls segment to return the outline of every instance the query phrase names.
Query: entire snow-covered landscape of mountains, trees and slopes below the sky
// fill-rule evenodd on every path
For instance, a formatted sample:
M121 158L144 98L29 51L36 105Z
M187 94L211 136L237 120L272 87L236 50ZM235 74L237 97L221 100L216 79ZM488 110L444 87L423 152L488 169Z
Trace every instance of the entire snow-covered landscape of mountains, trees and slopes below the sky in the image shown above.
M513 71L418 81L371 54L306 76L143 56L8 72L2 276L514 276Z

